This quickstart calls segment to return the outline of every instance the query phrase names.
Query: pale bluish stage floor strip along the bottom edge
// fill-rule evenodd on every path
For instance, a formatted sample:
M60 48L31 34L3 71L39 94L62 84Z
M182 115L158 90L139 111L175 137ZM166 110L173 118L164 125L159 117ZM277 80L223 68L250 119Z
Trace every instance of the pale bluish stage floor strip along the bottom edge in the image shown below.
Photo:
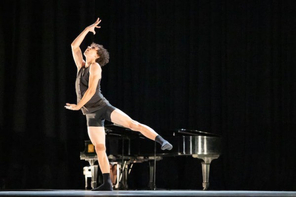
M7 197L296 197L296 192L283 191L197 191L197 190L156 190L156 191L112 191L92 192L85 190L28 190L0 191Z

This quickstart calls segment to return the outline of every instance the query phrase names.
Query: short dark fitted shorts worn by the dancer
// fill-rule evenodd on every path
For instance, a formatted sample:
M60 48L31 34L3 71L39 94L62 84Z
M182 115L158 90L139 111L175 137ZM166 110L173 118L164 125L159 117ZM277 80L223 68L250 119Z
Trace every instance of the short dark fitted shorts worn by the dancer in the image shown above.
M86 114L87 127L104 127L105 119L111 121L111 113L115 109L111 104L107 104L93 113Z

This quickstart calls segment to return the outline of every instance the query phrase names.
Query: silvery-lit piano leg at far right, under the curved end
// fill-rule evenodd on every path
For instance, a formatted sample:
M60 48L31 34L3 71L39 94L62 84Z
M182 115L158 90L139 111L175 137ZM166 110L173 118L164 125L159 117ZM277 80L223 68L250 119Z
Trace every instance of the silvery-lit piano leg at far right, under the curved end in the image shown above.
M192 155L194 158L203 160L202 166L202 187L203 190L207 190L210 186L209 175L210 175L210 164L213 160L218 159L219 155Z

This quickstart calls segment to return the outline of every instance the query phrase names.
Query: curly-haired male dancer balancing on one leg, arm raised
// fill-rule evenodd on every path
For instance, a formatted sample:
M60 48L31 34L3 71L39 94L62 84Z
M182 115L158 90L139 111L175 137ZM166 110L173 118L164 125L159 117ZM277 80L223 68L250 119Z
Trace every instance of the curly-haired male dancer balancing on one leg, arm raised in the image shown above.
M101 28L98 26L100 23L101 20L98 18L93 25L85 28L71 44L73 58L77 66L75 83L77 104L66 103L65 107L71 110L81 109L86 116L88 135L95 146L104 180L102 185L92 189L92 191L112 191L110 164L105 146L105 119L133 131L141 132L149 139L160 143L162 150L171 150L173 146L148 126L131 119L124 112L113 107L101 94L101 67L109 62L109 52L102 45L92 43L83 53L84 61L79 48L88 32L95 34L95 28Z

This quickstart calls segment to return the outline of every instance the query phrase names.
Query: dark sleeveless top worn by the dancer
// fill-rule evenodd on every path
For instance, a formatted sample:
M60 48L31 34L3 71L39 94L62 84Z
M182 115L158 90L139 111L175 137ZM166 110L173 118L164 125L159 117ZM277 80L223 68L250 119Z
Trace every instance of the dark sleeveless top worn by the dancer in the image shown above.
M82 66L78 71L76 82L75 82L77 103L80 102L86 90L88 89L89 67L90 66L88 67ZM84 115L97 111L102 106L109 104L109 101L105 99L105 97L103 97L101 93L100 82L101 82L101 79L98 82L98 86L94 96L87 103L85 103L85 105L81 108L81 111Z

